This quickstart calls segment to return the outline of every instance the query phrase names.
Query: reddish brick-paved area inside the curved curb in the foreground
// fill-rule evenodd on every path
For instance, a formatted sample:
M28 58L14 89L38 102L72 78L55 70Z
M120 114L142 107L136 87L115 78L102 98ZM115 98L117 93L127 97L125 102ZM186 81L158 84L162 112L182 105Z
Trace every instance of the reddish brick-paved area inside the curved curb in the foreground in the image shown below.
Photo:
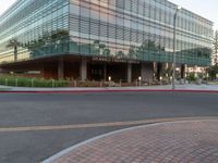
M117 131L78 145L49 162L218 163L218 120L162 123Z

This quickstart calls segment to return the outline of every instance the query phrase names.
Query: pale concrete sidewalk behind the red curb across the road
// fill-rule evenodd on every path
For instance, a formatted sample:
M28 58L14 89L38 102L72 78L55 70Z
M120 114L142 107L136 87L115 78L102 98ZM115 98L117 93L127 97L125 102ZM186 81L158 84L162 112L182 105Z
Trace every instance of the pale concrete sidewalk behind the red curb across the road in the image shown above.
M171 85L167 86L145 86L145 87L96 87L96 88L81 88L81 87L68 87L68 88L32 88L32 87L5 87L0 86L1 90L8 91L157 91L157 90L171 90ZM218 85L177 85L177 91L216 91L218 92Z

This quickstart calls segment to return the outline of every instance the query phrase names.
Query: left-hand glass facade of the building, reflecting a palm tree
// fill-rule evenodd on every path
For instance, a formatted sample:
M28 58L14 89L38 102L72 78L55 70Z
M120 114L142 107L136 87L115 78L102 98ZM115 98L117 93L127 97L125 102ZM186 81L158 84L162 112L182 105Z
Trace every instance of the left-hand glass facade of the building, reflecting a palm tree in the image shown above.
M0 62L14 61L15 45L17 60L66 53L69 0L17 0L0 17Z

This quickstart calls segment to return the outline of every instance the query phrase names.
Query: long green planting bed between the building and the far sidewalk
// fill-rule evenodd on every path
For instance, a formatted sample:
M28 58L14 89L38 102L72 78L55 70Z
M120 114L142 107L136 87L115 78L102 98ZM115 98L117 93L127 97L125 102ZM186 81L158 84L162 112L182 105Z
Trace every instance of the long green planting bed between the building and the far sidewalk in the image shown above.
M134 80L132 83L124 83L121 80L117 82L96 82L96 80L74 80L74 79L44 79L44 78L29 78L12 75L1 75L0 85L2 86L12 86L12 87L138 87L138 86L154 86L154 85L168 85L169 82L162 79L158 80L148 80L148 82L138 82Z

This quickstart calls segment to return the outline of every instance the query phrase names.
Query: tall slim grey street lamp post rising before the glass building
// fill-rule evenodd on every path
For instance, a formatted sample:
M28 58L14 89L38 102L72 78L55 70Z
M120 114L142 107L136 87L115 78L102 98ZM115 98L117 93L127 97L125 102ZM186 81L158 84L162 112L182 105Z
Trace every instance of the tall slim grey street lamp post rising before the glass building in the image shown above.
M178 11L181 10L181 7L178 7L173 17L173 63L172 63L172 89L174 90L174 78L175 78L175 35L177 35L177 15Z

